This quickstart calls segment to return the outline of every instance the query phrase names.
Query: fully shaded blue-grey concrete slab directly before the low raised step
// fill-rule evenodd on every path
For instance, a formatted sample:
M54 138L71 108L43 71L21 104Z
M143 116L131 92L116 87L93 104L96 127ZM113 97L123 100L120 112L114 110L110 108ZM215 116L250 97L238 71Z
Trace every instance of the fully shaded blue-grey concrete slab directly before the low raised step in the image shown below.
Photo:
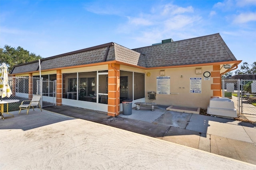
M191 117L192 113L181 113L174 111L166 111L160 116L154 123L170 125L173 127L186 128L186 125Z

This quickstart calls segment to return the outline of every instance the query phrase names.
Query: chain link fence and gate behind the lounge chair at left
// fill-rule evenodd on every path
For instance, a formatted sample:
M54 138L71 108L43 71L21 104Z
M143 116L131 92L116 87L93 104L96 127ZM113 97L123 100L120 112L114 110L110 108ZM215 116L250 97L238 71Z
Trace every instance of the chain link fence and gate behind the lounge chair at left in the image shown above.
M19 110L19 105L22 103L22 101L31 100L33 95L40 95L41 91L42 107L55 105L56 103L55 81L42 81L42 79L38 77L8 77L8 84L10 85L12 95L10 97L4 97L2 99L19 100L19 102L8 104L9 112ZM7 105L4 105L4 112L7 112Z

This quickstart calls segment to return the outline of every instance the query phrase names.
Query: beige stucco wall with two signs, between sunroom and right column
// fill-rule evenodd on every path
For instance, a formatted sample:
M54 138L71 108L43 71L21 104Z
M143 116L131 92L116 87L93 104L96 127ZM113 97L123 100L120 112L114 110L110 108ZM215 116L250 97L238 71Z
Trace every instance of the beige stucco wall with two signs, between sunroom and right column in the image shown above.
M206 109L209 104L210 98L212 97L211 84L213 83L213 78L210 77L210 80L204 80L203 73L205 71L211 72L212 66L201 67L202 74L196 74L196 68L198 67L146 70L146 73L151 73L149 77L145 76L146 102L150 102L147 97L148 92L156 91L156 77L170 76L170 92L178 94L156 94L156 100L154 100L153 102L160 105L201 107ZM165 75L160 75L160 70L164 70ZM202 93L190 93L190 77L202 78Z

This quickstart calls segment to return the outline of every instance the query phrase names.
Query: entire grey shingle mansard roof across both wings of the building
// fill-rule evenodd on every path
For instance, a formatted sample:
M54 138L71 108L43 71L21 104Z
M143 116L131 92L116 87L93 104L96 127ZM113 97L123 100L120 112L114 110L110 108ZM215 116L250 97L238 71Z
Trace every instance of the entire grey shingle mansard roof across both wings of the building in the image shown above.
M164 67L220 61L236 61L220 34L128 49L116 43L72 51L41 59L41 70L120 61L141 67ZM11 74L38 71L38 61L16 65Z

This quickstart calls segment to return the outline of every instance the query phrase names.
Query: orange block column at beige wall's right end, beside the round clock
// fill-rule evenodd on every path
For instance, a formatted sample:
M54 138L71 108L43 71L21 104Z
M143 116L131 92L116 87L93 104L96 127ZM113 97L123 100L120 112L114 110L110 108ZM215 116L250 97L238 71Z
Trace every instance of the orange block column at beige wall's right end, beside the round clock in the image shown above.
M220 81L220 65L213 65L213 71L211 72L213 82L211 84L212 97L221 96L221 81Z

